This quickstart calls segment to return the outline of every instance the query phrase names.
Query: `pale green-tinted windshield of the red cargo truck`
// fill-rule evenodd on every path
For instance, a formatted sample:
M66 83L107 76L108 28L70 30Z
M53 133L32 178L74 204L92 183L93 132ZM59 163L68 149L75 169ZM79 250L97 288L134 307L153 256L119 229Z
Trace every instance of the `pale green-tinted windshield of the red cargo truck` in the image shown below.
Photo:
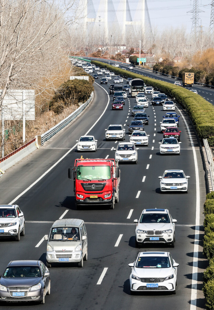
M107 180L110 178L109 166L79 166L77 168L78 180Z

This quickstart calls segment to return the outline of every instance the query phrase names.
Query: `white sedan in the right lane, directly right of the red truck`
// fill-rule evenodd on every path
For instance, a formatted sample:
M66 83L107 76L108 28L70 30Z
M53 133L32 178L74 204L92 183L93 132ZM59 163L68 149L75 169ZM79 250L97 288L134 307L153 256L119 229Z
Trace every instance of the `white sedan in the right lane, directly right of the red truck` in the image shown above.
M165 170L163 176L158 176L160 179L160 190L162 192L186 192L188 189L188 179L190 176L185 176L183 170Z

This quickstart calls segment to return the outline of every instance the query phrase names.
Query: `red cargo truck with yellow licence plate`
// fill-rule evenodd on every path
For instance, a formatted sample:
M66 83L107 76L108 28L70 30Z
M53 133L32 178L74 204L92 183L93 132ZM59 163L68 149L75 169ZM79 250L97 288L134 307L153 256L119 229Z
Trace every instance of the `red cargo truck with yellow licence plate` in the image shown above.
M119 200L120 170L114 159L76 159L68 177L74 176L74 194L77 210L85 205L110 205Z

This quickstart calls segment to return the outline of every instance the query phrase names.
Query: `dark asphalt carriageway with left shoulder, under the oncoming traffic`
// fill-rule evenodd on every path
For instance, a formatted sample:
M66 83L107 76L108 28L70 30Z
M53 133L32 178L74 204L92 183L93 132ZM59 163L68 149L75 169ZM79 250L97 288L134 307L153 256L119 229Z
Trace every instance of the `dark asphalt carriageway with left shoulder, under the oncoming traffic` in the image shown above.
M59 218L79 218L86 222L88 260L83 268L75 264L59 264L50 268L51 295L45 305L3 304L4 309L23 306L26 310L130 310L144 308L175 310L203 309L201 292L205 259L201 253L203 237L203 202L206 195L205 168L201 147L185 111L176 105L180 117L181 155L160 156L159 144L163 134L159 122L165 111L149 107L149 146L140 147L138 164L120 164L121 183L119 202L114 210L105 207L84 207L76 210L73 181L68 179L68 167L75 158L114 158L117 141L105 141L109 124L122 124L126 129L132 120L131 108L135 99L128 95L123 111L112 111L112 95L108 85L95 82L95 98L80 117L21 162L6 171L1 179L0 203L16 203L25 215L25 236L20 242L1 240L0 272L11 260L41 259L46 263L46 242L43 240L51 224ZM111 81L110 81L111 82ZM124 80L126 83L126 80ZM147 95L151 100L151 95ZM98 140L96 153L77 153L76 140L86 133ZM188 193L160 193L158 176L165 169L183 169L190 175ZM135 247L135 224L144 208L167 208L177 219L174 248L164 245ZM196 227L197 226L197 227ZM121 236L122 235L122 236ZM199 264L198 257L199 240ZM170 251L178 267L176 295L152 292L130 294L129 275L132 263L141 251ZM101 275L104 276L102 277ZM195 284L195 281L198 286ZM198 291L197 291L198 289ZM196 300L197 292L197 300Z

